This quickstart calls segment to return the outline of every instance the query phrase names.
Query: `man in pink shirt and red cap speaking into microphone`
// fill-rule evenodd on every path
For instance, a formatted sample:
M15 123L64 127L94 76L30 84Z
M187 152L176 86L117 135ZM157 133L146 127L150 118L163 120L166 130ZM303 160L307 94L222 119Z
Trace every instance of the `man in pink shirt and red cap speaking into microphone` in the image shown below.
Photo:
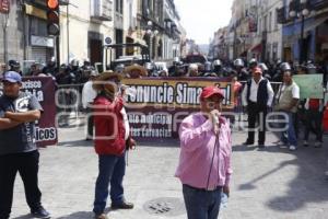
M231 130L221 116L223 99L219 88L204 88L200 112L179 127L181 150L175 175L183 184L188 219L218 218L221 194L230 194Z

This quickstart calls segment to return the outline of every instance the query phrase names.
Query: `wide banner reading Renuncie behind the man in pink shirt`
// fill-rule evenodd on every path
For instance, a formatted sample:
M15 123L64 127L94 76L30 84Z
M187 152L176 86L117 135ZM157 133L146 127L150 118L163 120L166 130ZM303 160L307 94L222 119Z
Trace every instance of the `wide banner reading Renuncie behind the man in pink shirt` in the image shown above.
M126 110L136 138L177 138L178 127L188 115L199 112L202 88L220 87L224 93L223 111L234 107L233 85L229 78L144 78L124 79L134 91L128 95Z

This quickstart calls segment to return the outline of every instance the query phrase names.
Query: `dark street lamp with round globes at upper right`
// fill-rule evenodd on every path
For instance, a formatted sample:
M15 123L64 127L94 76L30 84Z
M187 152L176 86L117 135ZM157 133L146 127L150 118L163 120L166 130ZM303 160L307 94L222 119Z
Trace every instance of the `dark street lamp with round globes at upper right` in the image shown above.
M294 0L291 2L291 10L289 12L290 18L296 19L301 18L301 48L300 48L300 64L303 64L305 60L305 41L304 41L304 22L305 18L309 15L309 9L307 0Z

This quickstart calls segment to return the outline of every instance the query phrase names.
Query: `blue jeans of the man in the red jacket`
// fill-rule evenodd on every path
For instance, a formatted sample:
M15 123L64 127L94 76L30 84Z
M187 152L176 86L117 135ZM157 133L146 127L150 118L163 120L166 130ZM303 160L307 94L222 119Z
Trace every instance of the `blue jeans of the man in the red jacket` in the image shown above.
M104 212L110 183L112 204L125 201L122 180L126 173L125 153L117 155L98 155L98 177L95 184L95 200L93 211L96 215Z

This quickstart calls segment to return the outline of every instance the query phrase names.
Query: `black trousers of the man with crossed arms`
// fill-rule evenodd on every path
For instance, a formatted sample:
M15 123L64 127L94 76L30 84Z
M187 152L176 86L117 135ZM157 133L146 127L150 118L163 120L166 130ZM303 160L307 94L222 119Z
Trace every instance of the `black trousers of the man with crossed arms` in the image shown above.
M38 151L0 155L0 219L7 219L10 216L17 172L23 180L25 197L31 210L42 205L37 178L38 161Z

